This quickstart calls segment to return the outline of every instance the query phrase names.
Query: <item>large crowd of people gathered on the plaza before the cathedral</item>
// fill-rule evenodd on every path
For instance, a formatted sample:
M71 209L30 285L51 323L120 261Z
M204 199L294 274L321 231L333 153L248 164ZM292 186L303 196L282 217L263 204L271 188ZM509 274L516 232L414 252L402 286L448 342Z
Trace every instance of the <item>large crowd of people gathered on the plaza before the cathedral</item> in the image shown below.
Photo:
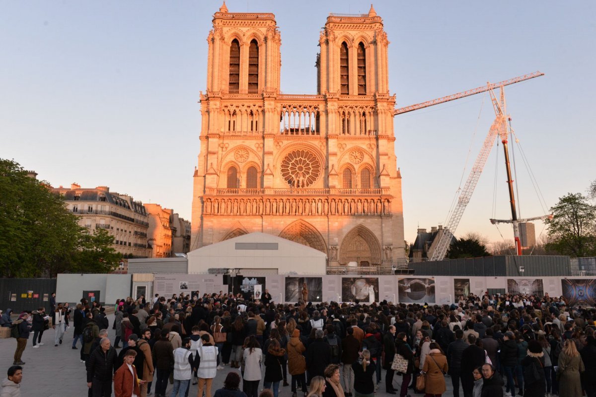
M27 340L33 332L33 348L43 345L50 317L55 346L72 323L94 397L152 389L164 397L168 384L172 397L188 396L191 384L197 397L212 397L226 366L239 371L215 397L257 397L261 381L272 397L283 387L292 397L374 397L383 377L384 391L400 397L440 396L446 382L455 397L596 396L596 310L548 294L470 295L452 305L276 304L267 290L260 298L195 291L119 299L113 343L97 302L71 310L51 301L51 315L39 308L15 321L7 310L1 326L11 327L17 348L0 397L18 395Z

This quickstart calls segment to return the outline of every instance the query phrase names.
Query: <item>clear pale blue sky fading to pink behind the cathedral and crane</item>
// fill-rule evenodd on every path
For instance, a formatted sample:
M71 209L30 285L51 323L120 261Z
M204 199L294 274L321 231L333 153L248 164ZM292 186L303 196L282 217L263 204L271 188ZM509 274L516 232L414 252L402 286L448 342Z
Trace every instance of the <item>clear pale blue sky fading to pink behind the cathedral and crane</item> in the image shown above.
M287 93L315 92L319 30L328 13L370 8L357 1L226 4L231 12L274 12ZM391 42L390 90L401 107L488 80L544 72L506 93L513 127L550 207L596 179L595 4L375 2ZM107 185L190 219L200 150L197 101L206 86L206 37L220 5L0 2L0 157L54 186ZM395 118L409 242L418 224L430 229L445 221L474 132L469 164L492 119L490 99L482 94ZM501 239L488 221L493 196L496 217L510 217L502 148L496 149L499 157L493 149L458 235ZM527 175L518 161L522 216L542 215ZM509 227L500 229L511 238ZM536 229L541 232L541 224Z

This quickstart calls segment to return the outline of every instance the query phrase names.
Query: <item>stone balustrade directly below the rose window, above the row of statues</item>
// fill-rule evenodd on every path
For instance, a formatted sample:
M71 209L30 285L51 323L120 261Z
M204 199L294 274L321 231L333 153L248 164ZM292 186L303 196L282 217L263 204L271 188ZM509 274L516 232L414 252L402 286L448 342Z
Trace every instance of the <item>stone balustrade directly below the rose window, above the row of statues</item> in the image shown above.
M288 187L287 189L206 189L207 195L246 195L246 196L261 196L261 195L288 195L288 196L295 196L295 195L321 195L321 196L328 196L328 195L350 195L350 196L358 196L358 195L367 195L367 196L378 196L383 194L388 194L389 189L309 189L300 188L300 189L292 189Z

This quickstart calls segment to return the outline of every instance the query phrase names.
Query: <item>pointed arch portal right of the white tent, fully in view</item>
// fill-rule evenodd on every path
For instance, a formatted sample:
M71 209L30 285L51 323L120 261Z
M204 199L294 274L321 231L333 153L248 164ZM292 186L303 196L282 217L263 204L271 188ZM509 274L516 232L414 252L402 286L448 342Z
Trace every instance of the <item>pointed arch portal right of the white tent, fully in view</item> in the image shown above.
M359 266L381 264L381 245L377 237L365 226L358 225L343 237L339 249L339 262L357 262Z

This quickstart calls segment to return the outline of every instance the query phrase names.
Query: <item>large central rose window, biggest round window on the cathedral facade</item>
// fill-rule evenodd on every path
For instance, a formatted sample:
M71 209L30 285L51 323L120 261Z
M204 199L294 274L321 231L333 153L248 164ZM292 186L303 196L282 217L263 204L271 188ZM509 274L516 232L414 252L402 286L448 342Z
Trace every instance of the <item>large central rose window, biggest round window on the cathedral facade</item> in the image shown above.
M291 187L311 186L320 175L321 163L309 151L292 151L281 161L281 176Z

